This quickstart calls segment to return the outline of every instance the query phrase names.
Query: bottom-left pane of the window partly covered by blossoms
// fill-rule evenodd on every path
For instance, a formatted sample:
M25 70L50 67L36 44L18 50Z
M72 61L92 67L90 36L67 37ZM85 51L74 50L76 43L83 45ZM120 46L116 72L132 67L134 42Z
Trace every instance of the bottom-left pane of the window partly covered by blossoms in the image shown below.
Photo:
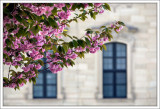
M42 86L34 86L34 97L43 97L43 87Z

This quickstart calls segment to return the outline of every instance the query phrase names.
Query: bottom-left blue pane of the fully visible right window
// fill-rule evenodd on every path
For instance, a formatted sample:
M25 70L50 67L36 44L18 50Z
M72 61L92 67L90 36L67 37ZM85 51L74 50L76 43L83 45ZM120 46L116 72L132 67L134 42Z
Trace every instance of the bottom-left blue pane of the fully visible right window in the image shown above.
M103 87L103 94L104 94L104 97L113 97L113 86L105 85Z

